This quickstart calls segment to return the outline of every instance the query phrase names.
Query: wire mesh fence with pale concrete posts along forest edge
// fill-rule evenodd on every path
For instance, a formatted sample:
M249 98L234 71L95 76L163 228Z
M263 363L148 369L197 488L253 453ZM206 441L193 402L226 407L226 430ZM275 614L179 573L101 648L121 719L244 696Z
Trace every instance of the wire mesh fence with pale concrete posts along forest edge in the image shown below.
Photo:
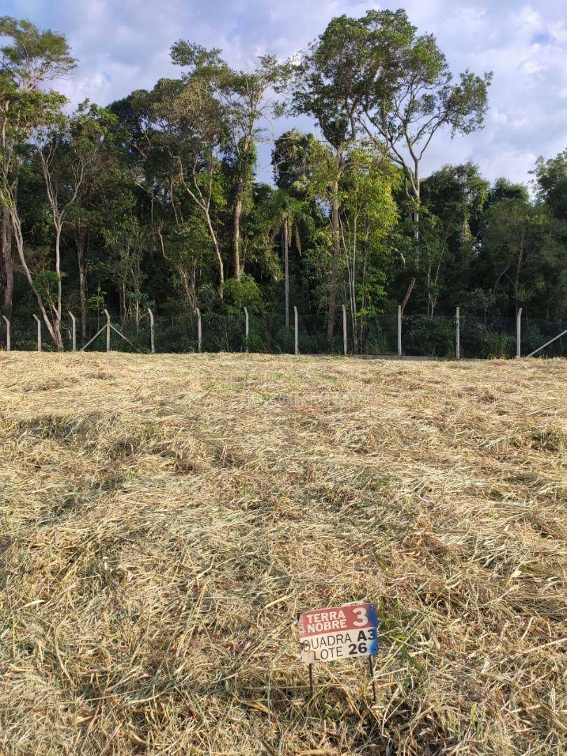
M198 338L197 314L156 314L154 318L154 342L156 352L185 354L189 352L265 352L268 354L293 354L293 311L290 327L268 314L249 313L249 336L246 342L245 314L242 312L203 312L201 319L201 343ZM397 355L398 320L390 311L375 316L367 323L358 337L357 349L353 343L352 319L347 315L347 350L349 354ZM89 317L83 335L82 324L76 321L76 349L82 349L92 336L106 323L104 315ZM124 339L110 332L110 349L120 352L150 352L150 318L144 314L138 322L129 319L112 324L123 333ZM403 355L430 358L455 358L456 319L445 315L426 318L408 314L402 321L401 345ZM567 321L545 321L522 318L522 355L567 329ZM73 348L72 324L66 318L61 328L64 349ZM0 328L2 349L7 347L6 324ZM302 314L298 317L298 345L300 354L342 354L342 312L336 317L334 336L327 339L325 314ZM105 351L105 330L88 346L88 351ZM37 324L33 317L14 317L11 320L11 349L33 351L38 349ZM42 350L54 351L55 347L42 324ZM511 358L516 355L515 318L492 318L490 321L460 311L460 357L461 358ZM567 357L567 336L556 339L541 353L542 357Z

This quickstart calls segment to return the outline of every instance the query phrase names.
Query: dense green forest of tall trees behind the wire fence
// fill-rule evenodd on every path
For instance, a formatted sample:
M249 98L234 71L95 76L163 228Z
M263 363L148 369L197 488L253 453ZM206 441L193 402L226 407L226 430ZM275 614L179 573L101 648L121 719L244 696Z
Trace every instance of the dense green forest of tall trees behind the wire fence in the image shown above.
M148 308L170 352L196 349L197 309L209 350L243 349L245 307L250 348L273 352L293 350L294 307L302 352L342 350L343 305L354 353L395 351L398 305L417 355L454 353L457 306L466 356L513 355L519 308L524 353L567 327L567 150L528 187L467 161L422 177L433 141L482 129L491 73L454 76L404 11L337 17L249 70L179 40L177 78L74 112L57 91L76 66L64 36L11 17L0 36L13 349L35 347L34 314L45 347L69 349L69 311L84 344L105 308L142 351ZM282 116L314 133L273 140Z

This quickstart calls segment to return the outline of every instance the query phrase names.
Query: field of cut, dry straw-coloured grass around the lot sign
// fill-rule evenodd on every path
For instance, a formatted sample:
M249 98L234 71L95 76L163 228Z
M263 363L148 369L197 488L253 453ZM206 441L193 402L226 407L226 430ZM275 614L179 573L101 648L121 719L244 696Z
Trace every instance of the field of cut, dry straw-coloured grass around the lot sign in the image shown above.
M565 754L566 377L0 355L0 752Z

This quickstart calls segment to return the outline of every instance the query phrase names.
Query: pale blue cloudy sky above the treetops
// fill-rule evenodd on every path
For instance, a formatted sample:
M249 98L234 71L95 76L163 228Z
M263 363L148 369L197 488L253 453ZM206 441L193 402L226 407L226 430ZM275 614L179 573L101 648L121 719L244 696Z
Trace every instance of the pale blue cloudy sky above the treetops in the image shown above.
M178 76L169 60L177 39L222 48L229 64L249 68L260 52L283 59L305 48L340 14L403 7L420 33L433 33L451 70L494 73L485 127L451 140L437 135L423 175L472 160L494 181L527 183L535 160L567 147L567 7L565 0L0 0L0 14L64 33L79 67L57 88L73 104L106 105L157 79ZM294 119L315 130L307 118ZM267 139L290 128L268 125ZM270 180L270 146L259 151L259 178Z

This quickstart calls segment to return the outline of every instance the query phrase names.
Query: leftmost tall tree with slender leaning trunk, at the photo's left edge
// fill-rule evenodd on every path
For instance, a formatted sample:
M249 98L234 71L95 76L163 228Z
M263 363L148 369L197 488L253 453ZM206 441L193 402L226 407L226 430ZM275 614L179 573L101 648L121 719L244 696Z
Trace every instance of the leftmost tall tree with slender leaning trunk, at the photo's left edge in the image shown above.
M10 311L14 296L12 238L27 280L51 333L47 314L23 251L23 236L17 208L17 182L25 153L21 149L33 130L49 122L63 104L62 95L45 91L45 82L66 76L75 67L64 36L40 31L33 23L9 16L0 17L0 36L8 43L0 48L0 205L2 205L2 259L5 271L5 308Z

